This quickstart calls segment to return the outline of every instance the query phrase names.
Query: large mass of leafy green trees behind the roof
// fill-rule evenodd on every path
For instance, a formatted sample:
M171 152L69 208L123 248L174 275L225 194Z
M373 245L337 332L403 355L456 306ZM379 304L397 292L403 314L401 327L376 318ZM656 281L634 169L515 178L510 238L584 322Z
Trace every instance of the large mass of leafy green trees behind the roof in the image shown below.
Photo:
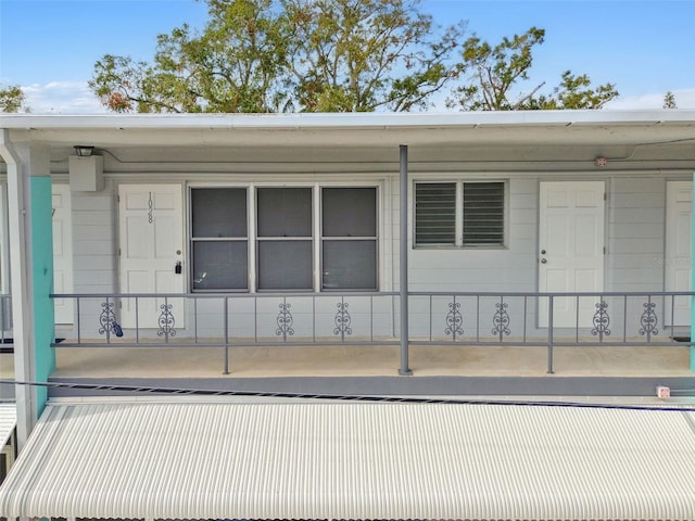
M157 37L151 63L105 54L89 82L115 112L427 110L450 88L458 110L598 109L615 86L567 72L551 93L529 81L545 31L460 42L420 0L206 0L210 20Z

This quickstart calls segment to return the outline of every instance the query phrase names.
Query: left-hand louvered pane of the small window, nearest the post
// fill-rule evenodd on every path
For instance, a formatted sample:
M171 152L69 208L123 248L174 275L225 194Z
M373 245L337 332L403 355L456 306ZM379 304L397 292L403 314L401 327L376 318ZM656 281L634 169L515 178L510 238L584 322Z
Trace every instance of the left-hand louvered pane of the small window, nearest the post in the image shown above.
M456 183L415 186L415 243L456 243Z

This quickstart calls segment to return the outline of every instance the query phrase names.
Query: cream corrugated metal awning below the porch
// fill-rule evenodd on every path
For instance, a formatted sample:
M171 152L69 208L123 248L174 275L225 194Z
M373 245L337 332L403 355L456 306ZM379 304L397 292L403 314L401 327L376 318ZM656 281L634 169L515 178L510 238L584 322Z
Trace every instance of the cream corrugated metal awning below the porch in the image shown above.
M694 483L686 411L56 403L0 516L692 520Z

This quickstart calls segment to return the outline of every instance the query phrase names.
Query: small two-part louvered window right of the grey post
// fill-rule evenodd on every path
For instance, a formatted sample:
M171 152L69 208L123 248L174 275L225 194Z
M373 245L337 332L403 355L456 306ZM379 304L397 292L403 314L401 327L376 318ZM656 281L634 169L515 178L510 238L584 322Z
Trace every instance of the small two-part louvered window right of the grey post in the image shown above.
M417 246L503 245L504 230L503 181L415 185Z

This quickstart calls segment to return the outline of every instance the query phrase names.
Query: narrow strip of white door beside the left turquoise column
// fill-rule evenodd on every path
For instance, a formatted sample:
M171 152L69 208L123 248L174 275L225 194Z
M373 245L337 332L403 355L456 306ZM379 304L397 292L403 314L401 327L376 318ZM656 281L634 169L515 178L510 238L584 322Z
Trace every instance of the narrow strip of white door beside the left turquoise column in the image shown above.
M70 185L53 185L53 292L73 291L73 226ZM75 303L55 298L55 323L73 323Z

